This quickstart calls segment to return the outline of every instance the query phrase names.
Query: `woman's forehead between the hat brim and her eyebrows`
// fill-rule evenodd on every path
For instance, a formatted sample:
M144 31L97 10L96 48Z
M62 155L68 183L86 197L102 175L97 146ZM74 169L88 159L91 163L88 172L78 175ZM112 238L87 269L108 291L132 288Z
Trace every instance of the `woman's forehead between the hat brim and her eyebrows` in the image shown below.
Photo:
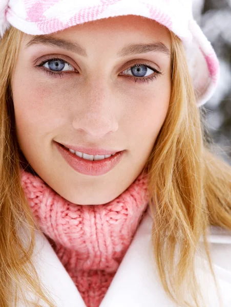
M48 43L49 41L51 42L52 40L59 39L59 45L61 47L61 40L73 43L76 42L76 45L78 45L79 41L87 45L89 45L90 42L93 42L96 45L96 38L97 41L108 42L110 45L114 42L123 45L124 42L144 43L159 41L159 45L161 45L162 42L163 46L166 46L171 50L171 35L167 28L158 24L155 20L135 15L109 17L89 21L88 23L79 24L46 35L33 36L24 33L23 40L25 44L28 44L30 41ZM71 49L71 44L69 45L69 48ZM82 53L82 55L85 53L83 50L80 50L79 46L76 46L76 48L79 49L78 51Z

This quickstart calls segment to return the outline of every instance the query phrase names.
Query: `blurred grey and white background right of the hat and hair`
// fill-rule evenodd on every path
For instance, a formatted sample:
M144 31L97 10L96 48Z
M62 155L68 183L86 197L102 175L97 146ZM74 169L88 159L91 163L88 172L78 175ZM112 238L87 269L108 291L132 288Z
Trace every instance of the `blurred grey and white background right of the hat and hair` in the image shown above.
M213 150L231 165L231 0L193 1L195 19L221 65L218 89L202 112L214 142Z

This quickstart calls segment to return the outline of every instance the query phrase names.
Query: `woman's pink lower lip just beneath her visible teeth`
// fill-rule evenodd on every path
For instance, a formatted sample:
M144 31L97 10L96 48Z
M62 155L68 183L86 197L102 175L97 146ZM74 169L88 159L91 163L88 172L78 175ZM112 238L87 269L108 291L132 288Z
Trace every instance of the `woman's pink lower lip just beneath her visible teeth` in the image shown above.
M106 174L111 169L113 169L116 164L122 159L123 151L117 152L114 156L103 160L90 161L80 158L72 153L66 147L54 142L62 157L67 161L67 163L77 172L89 176L100 176Z

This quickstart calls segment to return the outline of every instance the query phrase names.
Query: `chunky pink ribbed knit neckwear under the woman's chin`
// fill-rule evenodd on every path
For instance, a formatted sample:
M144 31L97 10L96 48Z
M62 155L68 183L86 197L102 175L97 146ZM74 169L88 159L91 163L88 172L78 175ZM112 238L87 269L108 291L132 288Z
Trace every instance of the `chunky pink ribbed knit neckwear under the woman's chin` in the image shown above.
M38 227L86 305L98 307L148 207L146 177L108 204L76 205L38 176L25 170L20 176Z

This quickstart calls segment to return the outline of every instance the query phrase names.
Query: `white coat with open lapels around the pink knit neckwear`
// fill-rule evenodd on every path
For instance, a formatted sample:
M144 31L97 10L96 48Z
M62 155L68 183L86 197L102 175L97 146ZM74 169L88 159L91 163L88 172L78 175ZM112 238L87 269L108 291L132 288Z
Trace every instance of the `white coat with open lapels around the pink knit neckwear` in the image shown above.
M177 306L166 296L154 268L151 246L152 224L152 217L148 210L100 307ZM211 227L208 242L211 243L214 271L220 286L223 305L218 301L211 282L212 276L206 270L208 262L198 255L198 260L202 261L197 261L196 272L206 298L206 306L231 307L231 232ZM74 282L62 266L50 243L38 231L36 231L36 249L33 261L39 277L49 289L58 307L86 307ZM23 305L19 303L18 307L23 307Z

